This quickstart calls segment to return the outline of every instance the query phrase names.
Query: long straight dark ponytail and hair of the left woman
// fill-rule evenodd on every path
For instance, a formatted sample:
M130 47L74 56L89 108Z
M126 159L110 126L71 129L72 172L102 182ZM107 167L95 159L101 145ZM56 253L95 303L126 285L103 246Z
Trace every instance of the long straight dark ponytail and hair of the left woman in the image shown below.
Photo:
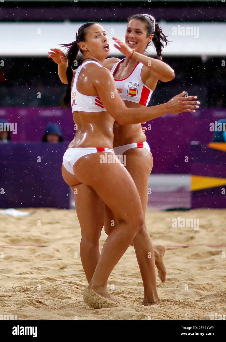
M69 44L61 44L61 46L69 48L69 49L66 53L67 60L68 60L68 67L66 70L66 76L67 76L68 84L67 84L67 88L66 88L66 93L60 102L60 108L62 108L62 107L66 107L67 109L71 108L71 81L73 78L72 65L73 65L74 61L76 60L79 51L81 53L83 53L79 47L79 43L82 41L85 41L86 28L88 28L89 26L91 26L93 24L95 24L95 23L83 24L77 30L75 41L73 41L72 43L69 43Z

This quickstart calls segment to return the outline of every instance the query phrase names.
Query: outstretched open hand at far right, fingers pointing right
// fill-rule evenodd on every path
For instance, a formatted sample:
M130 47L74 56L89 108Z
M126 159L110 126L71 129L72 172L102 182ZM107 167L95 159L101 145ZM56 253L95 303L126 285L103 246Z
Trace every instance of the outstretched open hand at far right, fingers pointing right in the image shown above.
M169 100L167 102L168 107L168 113L172 114L179 114L184 112L193 113L195 109L199 108L199 101L194 101L197 96L187 96L184 97L186 94L185 91L183 93L180 93ZM193 100L193 101L192 101Z

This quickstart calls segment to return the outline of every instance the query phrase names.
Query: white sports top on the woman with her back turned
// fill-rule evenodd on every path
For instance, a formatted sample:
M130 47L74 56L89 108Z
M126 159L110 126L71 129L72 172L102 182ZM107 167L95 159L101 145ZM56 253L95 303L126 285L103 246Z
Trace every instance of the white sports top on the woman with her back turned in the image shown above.
M99 96L89 96L89 95L84 95L81 94L77 88L76 88L76 83L77 83L77 78L79 77L80 71L84 67L84 65L88 63L95 63L102 67L102 65L96 61L87 61L80 65L80 67L77 68L75 77L74 77L74 82L71 87L71 109L72 113L73 111L87 111L87 112L95 112L95 111L104 111L106 110L100 101Z

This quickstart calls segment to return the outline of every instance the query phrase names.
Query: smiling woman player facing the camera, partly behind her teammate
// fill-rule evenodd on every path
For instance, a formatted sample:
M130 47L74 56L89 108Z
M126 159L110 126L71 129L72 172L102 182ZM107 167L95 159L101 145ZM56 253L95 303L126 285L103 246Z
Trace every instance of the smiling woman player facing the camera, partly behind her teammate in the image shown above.
M119 41L117 40L117 42ZM104 61L103 66L113 73L116 88L128 108L147 106L157 81L159 79L162 81L169 81L174 77L174 71L166 63L161 63L158 60L144 56L144 52L150 42L154 43L157 55L159 59L162 59L162 51L164 45L166 45L168 41L166 36L162 33L161 28L155 23L155 19L149 14L132 15L128 18L125 43L136 52L139 52L138 59L140 62L133 57L124 58L122 61L118 58L108 58ZM124 49L128 50L127 45L125 46L122 42L119 42L119 44L122 53L124 52ZM67 59L63 58L64 54L61 50L52 50L56 54L62 55L62 60L67 63ZM128 51L130 55L131 50L129 49ZM134 64L134 62L137 63ZM61 81L67 84L66 68L60 64L58 72ZM130 86L131 84L132 86ZM146 142L146 136L143 134L141 124L121 126L118 122L115 122L113 133L114 152L116 155L126 154L126 169L135 181L145 215L148 198L148 180L153 166L153 158L150 147ZM107 234L109 234L112 229L112 222L117 222L117 220L112 211L106 207L104 228ZM136 241L133 241L133 243L135 243L135 250L137 245L136 242L139 244L139 249L136 252L139 267L141 270L144 270L145 268L149 269L149 272L141 271L144 288L149 288L154 261L158 269L159 278L164 282L166 280L166 267L163 262L163 256L166 247L164 245L152 245L146 228L145 231L141 229L136 236ZM153 253L153 248L155 258L152 260L147 259L145 257L147 251ZM146 277L144 274L146 274Z

